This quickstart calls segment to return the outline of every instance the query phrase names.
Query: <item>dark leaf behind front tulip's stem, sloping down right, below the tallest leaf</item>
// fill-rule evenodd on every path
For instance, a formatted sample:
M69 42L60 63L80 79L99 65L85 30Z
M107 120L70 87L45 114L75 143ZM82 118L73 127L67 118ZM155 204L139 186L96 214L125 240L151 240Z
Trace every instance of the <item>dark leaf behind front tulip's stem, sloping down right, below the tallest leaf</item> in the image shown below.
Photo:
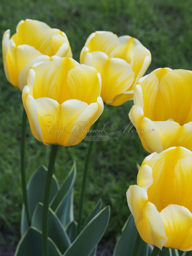
M43 204L37 204L31 224L42 231ZM48 213L48 236L54 241L61 253L64 253L71 245L69 237L54 211L49 208Z

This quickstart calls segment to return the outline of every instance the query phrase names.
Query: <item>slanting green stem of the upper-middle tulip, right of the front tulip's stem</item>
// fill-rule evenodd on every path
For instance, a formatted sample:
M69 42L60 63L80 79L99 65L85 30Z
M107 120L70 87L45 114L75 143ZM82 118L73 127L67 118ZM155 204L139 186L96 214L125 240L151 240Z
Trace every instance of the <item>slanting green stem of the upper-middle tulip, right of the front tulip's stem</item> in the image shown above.
M94 123L93 130L97 129L98 124L99 124L99 118ZM79 221L78 221L78 234L80 233L81 224L82 224L82 214L83 214L83 203L84 203L84 196L85 196L85 189L86 189L86 179L87 179L88 167L89 167L89 162L90 162L90 158L91 158L92 149L93 149L93 141L90 141L89 142L89 146L88 146L88 150L87 150L84 171L83 171L83 181L82 181L82 185L81 185L80 205L79 205Z

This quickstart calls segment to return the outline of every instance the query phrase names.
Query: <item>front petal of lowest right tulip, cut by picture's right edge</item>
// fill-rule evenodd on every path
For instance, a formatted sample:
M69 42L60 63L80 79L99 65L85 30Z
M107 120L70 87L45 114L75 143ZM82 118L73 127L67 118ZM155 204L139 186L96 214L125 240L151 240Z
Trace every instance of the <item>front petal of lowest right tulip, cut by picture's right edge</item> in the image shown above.
M182 251L192 249L192 213L180 205L168 205L160 212L168 237L164 246Z

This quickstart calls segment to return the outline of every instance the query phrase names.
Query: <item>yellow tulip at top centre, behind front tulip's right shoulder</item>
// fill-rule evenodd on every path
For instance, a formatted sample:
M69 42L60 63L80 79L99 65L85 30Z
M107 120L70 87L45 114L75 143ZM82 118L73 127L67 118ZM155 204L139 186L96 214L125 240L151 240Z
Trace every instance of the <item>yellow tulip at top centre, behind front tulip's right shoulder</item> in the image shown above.
M80 63L95 67L101 74L101 97L112 106L133 99L133 88L150 62L150 51L136 38L118 37L109 31L92 33L80 54Z

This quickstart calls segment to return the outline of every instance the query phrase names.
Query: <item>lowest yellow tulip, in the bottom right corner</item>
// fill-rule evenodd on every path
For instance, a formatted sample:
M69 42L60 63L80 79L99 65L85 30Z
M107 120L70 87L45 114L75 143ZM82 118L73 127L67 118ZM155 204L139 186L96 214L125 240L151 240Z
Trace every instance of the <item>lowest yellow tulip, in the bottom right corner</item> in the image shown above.
M141 238L162 249L192 250L192 152L172 147L141 165L127 202Z

